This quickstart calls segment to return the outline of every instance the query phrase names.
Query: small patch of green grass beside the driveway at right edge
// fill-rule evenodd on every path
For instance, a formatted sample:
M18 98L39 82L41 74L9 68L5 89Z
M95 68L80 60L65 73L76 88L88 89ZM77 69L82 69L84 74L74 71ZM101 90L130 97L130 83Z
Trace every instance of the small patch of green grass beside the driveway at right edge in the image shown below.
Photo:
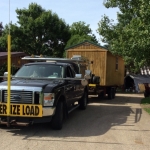
M150 115L150 97L143 98L141 104L143 109Z

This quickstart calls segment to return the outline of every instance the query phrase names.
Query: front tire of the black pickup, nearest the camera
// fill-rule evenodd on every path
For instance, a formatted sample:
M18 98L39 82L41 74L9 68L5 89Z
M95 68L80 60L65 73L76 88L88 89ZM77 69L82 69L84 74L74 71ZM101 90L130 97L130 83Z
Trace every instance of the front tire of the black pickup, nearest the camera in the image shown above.
M54 130L61 130L63 125L64 111L63 102L59 101L56 106L56 111L52 117L51 125Z

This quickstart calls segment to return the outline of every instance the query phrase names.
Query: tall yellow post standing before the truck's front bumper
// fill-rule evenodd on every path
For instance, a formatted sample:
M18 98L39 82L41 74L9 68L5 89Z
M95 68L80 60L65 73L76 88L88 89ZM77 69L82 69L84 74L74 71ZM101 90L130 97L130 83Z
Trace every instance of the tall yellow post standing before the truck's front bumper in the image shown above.
M10 116L10 87L11 87L11 36L8 35L8 56L7 56L7 70L8 70L8 78L7 78L7 116Z

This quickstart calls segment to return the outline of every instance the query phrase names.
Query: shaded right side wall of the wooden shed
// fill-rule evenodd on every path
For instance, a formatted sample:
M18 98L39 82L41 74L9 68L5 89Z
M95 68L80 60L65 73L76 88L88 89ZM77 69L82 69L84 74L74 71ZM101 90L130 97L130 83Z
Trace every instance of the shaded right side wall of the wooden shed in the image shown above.
M124 61L118 57L118 70L116 70L116 57L107 52L106 85L123 85Z

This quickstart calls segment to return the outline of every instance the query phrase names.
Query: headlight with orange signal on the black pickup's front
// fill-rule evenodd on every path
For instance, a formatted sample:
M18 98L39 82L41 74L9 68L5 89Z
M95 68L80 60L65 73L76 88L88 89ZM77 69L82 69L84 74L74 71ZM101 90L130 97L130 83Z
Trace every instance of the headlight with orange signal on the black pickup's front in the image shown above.
M54 93L44 93L44 106L53 106Z

